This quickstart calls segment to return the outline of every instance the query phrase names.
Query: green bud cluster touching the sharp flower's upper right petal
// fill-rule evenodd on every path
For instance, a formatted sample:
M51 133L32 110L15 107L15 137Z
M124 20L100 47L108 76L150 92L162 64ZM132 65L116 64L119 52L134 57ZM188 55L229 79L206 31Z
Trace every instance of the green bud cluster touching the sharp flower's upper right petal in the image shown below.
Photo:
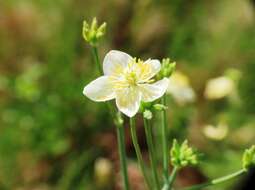
M161 70L157 74L157 79L160 80L164 77L169 78L175 70L175 67L175 62L171 62L169 58L163 59L161 64Z

